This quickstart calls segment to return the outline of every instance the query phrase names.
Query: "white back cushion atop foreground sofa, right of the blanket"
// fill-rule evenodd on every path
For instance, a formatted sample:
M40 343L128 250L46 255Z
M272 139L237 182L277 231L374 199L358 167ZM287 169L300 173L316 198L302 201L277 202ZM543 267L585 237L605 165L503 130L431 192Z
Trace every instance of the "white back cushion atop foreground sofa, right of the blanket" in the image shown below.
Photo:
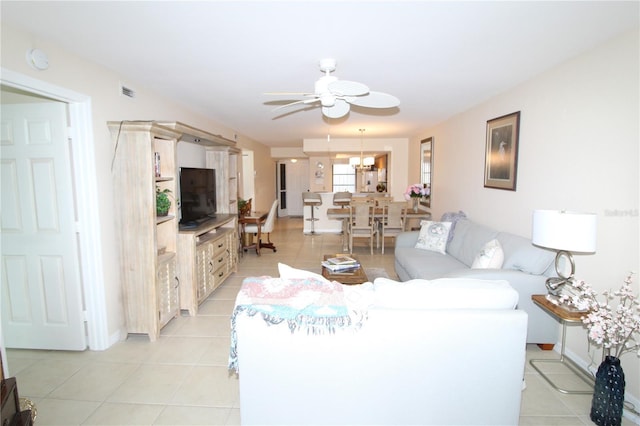
M518 292L505 280L376 278L374 306L388 309L515 309Z

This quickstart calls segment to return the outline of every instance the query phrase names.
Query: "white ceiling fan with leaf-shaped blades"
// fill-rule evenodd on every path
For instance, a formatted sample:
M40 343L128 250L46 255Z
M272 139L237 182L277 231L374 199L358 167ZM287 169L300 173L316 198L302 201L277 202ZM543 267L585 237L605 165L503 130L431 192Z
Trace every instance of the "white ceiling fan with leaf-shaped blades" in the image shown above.
M308 105L319 102L322 106L322 114L328 118L341 118L349 113L351 105L364 108L393 108L400 105L400 100L395 96L382 92L374 92L355 81L338 80L330 75L336 69L335 59L322 59L320 71L324 73L315 83L313 93L304 92L271 92L267 95L298 95L303 99L279 106L276 110L293 105Z

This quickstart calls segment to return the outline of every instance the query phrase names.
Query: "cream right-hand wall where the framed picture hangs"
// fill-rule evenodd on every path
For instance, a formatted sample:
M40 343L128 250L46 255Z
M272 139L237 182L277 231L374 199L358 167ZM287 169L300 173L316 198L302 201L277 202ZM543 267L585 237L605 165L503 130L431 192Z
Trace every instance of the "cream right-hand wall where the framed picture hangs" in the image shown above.
M434 217L463 210L530 237L534 209L594 212L597 253L575 257L576 275L604 291L619 288L627 272L640 272L639 39L633 32L613 40L412 138L415 155L420 139L435 138ZM515 111L521 111L517 190L484 188L486 121ZM567 347L589 362L585 329L569 327ZM622 366L627 395L637 402L640 358L624 355Z

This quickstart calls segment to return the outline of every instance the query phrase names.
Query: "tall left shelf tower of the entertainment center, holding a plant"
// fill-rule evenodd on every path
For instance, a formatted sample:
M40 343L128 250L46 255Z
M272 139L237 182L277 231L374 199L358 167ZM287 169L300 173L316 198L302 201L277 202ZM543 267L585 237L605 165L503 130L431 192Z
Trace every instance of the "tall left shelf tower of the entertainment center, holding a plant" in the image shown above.
M156 188L178 193L179 134L154 122L110 122L114 139L114 211L120 240L120 277L129 333L149 335L179 314L177 205L156 215ZM160 175L155 157L160 156ZM175 198L174 198L175 199Z

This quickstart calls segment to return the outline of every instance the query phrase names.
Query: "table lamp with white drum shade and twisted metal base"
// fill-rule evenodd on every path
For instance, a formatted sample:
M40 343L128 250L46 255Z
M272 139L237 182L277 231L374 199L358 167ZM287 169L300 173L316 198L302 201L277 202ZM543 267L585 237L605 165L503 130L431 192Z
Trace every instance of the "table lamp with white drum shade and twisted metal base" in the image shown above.
M565 210L534 210L531 242L539 247L557 250L557 277L547 279L549 294L559 296L562 287L576 271L572 253L595 253L596 215ZM571 265L569 275L562 271L562 259Z

